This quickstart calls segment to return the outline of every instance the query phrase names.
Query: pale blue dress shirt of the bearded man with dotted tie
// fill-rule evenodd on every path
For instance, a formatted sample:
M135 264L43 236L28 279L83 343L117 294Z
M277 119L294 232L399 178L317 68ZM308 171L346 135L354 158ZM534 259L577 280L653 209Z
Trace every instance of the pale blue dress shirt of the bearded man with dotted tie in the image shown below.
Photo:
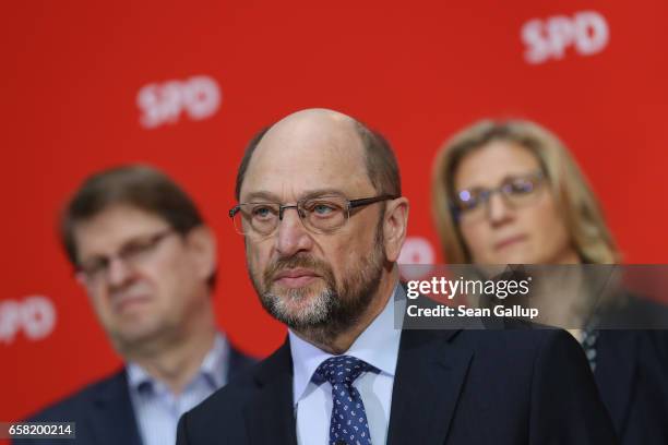
M392 385L402 334L394 323L394 300L398 289L397 285L383 311L357 337L350 349L344 352L380 370L380 373L363 373L353 383L365 405L373 445L384 444L387 438ZM311 377L320 363L334 356L302 340L291 330L288 330L288 335L293 354L297 443L326 445L330 441L332 385L324 382L319 386L311 382Z

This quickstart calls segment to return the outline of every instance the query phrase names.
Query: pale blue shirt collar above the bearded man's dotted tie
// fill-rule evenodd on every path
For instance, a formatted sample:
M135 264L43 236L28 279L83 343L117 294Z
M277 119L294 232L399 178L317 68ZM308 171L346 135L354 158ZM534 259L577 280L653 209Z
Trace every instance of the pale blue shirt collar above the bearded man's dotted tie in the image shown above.
M402 334L401 329L394 326L394 300L399 289L401 286L397 284L383 311L344 352L346 356L366 361L380 370L381 374L391 377L394 377L396 370ZM302 340L290 329L288 329L288 336L290 353L293 354L293 400L297 405L303 397L315 369L320 363L334 356Z

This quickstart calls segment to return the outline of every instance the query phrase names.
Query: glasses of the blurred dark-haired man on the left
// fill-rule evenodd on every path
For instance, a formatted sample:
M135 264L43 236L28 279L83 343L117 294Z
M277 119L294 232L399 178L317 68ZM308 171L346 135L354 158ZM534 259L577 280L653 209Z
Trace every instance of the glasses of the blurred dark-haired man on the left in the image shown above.
M168 228L154 234L132 239L115 255L97 256L79 264L76 276L88 286L98 285L107 280L109 266L115 258L122 261L127 267L136 267L150 260L160 241L174 233L176 233L174 229Z

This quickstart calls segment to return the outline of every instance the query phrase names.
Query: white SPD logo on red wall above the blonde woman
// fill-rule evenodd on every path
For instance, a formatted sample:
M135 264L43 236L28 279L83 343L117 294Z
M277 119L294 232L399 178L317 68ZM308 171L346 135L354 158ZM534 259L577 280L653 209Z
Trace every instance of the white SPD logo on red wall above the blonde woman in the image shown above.
M595 11L577 12L572 17L533 19L522 26L524 59L534 64L563 59L568 48L580 56L592 56L603 51L609 39L608 23Z

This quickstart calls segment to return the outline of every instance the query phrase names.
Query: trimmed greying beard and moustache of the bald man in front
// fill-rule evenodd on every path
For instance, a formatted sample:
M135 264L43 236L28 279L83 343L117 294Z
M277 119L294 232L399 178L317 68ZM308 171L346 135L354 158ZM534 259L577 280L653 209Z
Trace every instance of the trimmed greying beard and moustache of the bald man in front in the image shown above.
M289 289L283 296L278 296L264 289L261 284L257 282L253 274L250 274L262 306L274 318L293 330L318 342L329 344L338 334L358 323L378 291L386 262L383 250L382 219L377 228L373 244L371 255L361 256L359 264L349 268L351 273L343 277L341 289L336 289L336 281L329 265L311 256L297 255L279 260L274 265L274 270L306 267L319 273L325 282L324 289L315 296L309 297L311 290L308 287ZM273 275L274 273L265 274L264 282L271 282ZM307 305L298 313L290 311L290 306L294 305L290 303L301 303L305 299L308 299Z

